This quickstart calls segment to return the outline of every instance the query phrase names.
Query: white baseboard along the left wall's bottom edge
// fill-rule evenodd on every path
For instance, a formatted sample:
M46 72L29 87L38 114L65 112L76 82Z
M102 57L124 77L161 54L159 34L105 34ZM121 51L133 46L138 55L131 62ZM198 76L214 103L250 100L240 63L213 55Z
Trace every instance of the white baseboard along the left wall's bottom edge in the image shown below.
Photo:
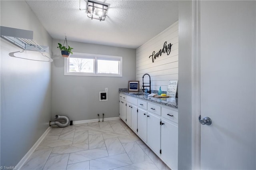
M20 170L20 168L22 168L22 166L25 164L25 162L28 160L28 158L31 156L31 154L36 150L36 148L38 147L38 145L42 142L42 140L44 139L44 137L48 134L48 132L50 132L51 127L48 127L45 132L42 134L42 136L36 141L36 143L32 146L32 148L30 148L30 150L23 156L23 158L20 160L20 162L16 165L16 167L18 168L18 170Z

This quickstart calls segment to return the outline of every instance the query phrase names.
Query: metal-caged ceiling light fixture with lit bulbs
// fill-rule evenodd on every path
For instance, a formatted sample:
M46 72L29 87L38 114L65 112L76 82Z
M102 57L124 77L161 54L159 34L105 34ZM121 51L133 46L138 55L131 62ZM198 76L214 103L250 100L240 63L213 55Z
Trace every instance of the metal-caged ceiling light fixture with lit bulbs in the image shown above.
M89 18L94 18L100 21L104 21L107 16L108 5L101 4L100 2L93 2L88 0L86 11L87 11L87 16Z

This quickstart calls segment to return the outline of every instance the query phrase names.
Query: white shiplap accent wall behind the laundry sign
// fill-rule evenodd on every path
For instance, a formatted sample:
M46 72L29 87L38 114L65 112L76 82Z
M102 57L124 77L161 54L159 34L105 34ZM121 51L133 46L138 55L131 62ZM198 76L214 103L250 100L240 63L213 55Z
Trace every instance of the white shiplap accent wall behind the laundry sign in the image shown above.
M152 63L152 52L158 53L164 42L172 43L169 55L162 53ZM136 49L136 80L142 85L142 76L148 73L151 77L151 90L167 91L169 80L178 80L178 21L166 28L160 34ZM145 75L144 83L148 83Z

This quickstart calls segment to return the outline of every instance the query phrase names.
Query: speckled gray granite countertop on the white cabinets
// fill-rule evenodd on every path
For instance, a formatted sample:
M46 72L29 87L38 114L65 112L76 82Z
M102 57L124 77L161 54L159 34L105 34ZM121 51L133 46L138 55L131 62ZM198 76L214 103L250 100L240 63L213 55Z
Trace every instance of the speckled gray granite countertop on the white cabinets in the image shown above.
M129 93L127 89L119 89L119 93L122 93L124 95L136 97L138 99L151 101L153 103L158 103L160 105L173 107L178 109L178 98L168 97L168 98L158 98L158 97L148 97L147 95L144 95L140 92L141 95L135 95L133 93Z

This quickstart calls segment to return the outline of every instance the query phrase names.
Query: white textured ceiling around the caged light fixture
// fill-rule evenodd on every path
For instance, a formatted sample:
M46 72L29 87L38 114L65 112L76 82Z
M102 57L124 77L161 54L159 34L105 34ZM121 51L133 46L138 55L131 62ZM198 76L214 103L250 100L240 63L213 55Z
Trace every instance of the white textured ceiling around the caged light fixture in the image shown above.
M54 39L137 48L178 20L174 0L98 0L110 4L105 21L91 20L86 1L27 0ZM81 3L81 10L79 9Z

